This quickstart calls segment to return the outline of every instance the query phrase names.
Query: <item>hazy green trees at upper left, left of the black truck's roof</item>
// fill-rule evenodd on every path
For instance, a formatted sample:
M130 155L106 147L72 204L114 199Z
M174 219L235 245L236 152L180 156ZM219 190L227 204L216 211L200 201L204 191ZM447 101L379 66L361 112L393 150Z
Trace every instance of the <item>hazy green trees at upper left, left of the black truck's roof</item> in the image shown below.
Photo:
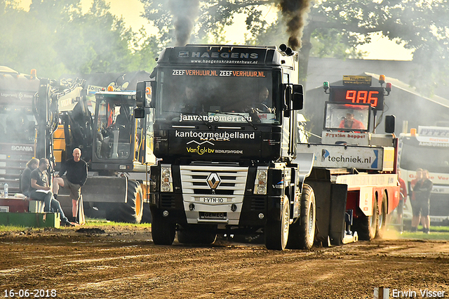
M126 28L94 0L87 13L81 0L33 0L29 11L16 0L0 0L0 65L39 77L132 72L151 69L159 51L155 36Z

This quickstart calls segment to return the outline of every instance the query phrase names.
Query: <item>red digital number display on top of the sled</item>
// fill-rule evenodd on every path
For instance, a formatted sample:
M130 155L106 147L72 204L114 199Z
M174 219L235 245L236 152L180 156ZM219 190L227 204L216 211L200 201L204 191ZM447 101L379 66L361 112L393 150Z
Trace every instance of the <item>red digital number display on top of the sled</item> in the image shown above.
M331 102L371 104L376 110L384 109L384 88L370 86L330 86Z

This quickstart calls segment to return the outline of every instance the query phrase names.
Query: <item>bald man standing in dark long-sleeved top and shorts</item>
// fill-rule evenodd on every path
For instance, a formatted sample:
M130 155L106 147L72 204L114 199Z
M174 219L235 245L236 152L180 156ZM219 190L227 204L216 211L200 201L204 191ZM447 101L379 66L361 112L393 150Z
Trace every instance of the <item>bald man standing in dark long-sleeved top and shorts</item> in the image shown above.
M62 178L62 175L67 171L67 175ZM87 180L87 163L81 159L81 150L76 148L73 150L73 158L68 159L62 165L60 172L55 175L53 179L53 193L55 198L58 198L59 186L70 190L70 198L72 199L72 217L76 220L76 213L78 212L79 198L81 197L81 187Z

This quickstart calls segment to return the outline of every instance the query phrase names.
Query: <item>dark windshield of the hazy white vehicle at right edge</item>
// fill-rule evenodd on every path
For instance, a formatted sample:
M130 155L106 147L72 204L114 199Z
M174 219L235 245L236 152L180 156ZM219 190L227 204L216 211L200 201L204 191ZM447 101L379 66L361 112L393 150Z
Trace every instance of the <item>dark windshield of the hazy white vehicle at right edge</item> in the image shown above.
M408 171L425 168L431 173L449 173L449 147L424 146L415 138L403 139L400 167Z

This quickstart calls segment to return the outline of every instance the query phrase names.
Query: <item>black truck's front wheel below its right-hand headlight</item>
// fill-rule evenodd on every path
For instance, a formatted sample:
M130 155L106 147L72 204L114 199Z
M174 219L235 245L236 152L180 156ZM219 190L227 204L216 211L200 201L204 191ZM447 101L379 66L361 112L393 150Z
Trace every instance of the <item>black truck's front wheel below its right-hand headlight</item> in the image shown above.
M267 249L284 250L288 241L290 227L290 204L284 196L281 205L281 220L268 219L265 225L265 246Z

